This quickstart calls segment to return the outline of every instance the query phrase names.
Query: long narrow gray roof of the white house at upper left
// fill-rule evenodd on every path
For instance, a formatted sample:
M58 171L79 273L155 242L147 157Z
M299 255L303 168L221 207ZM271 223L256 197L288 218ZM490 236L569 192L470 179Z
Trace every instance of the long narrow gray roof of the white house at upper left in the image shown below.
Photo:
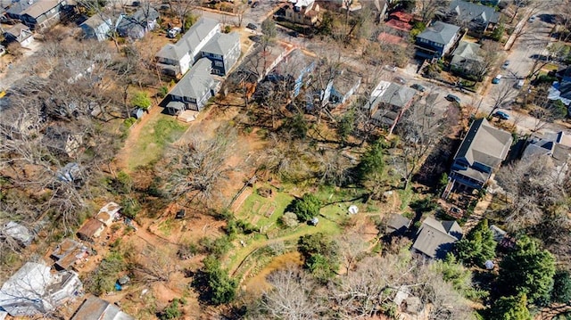
M218 28L219 21L202 18L196 21L175 45L165 45L157 53L157 57L179 61L186 53L196 49L212 29ZM234 37L234 36L233 36Z

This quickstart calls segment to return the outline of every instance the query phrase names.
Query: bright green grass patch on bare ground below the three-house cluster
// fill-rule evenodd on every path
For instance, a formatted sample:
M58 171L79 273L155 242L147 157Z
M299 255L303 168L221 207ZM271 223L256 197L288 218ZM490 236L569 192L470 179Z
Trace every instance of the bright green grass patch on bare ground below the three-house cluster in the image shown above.
M186 130L174 117L158 114L141 128L141 135L128 157L128 169L145 166L158 160L167 144L175 142Z

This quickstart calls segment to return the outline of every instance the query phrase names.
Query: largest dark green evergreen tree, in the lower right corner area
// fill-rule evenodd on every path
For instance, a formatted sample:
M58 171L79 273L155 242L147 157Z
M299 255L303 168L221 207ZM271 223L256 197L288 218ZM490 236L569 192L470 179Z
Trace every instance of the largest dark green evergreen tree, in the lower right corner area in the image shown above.
M501 260L499 289L504 295L524 293L530 303L542 304L550 299L555 275L555 258L538 242L527 237L517 242L517 249Z

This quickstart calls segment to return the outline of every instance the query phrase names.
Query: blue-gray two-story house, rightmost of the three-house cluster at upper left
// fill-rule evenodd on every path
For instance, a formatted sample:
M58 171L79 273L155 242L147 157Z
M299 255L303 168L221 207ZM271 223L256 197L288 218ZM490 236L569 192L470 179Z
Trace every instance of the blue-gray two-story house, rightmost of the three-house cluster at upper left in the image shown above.
M204 45L201 53L212 62L212 73L226 76L240 57L240 34L217 33Z

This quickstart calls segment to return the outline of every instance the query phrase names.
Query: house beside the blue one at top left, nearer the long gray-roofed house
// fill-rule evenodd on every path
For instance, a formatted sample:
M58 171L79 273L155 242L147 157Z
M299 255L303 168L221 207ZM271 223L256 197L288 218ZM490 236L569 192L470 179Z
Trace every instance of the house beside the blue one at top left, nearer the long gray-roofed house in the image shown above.
M120 37L141 39L157 26L157 19L159 19L159 12L145 5L131 15L121 15L117 24L117 33Z

